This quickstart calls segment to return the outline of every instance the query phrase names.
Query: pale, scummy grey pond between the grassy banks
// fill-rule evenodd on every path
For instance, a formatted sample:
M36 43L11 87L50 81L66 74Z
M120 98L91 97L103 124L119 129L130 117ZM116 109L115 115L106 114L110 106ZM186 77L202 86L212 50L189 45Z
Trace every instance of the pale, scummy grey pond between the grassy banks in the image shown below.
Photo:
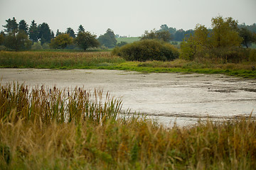
M0 79L1 84L18 81L32 87L103 89L122 98L124 111L145 113L164 125L192 125L199 118L223 120L256 112L256 80L220 74L0 69Z

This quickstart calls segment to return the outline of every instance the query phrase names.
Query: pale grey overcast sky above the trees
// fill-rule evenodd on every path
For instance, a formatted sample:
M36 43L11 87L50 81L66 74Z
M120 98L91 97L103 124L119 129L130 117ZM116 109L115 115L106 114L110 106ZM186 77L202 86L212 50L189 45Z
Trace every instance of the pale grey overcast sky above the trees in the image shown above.
M56 33L82 24L96 35L107 28L115 34L140 36L162 24L183 30L197 23L210 28L215 16L231 16L239 23L256 23L256 0L0 0L0 30L6 20L24 19L28 25L46 22Z

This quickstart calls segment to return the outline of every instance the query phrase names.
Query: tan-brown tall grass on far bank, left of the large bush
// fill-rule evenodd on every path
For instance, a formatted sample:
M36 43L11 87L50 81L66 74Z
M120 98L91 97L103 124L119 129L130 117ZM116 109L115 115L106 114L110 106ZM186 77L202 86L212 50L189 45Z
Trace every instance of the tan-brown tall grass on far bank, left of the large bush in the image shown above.
M80 69L124 62L110 52L0 52L0 67Z

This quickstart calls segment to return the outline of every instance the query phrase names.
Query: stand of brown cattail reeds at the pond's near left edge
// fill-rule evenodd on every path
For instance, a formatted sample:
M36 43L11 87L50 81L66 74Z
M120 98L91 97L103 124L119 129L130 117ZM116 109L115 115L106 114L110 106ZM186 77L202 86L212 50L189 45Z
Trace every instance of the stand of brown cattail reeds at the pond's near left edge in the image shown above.
M1 84L0 84L1 85ZM0 118L6 120L12 118L16 122L22 119L26 122L38 122L49 124L70 123L89 119L95 123L101 123L109 118L117 118L122 108L122 101L111 98L107 93L103 97L103 91L95 89L93 94L81 88L73 91L36 86L30 89L23 84L6 84L1 86Z

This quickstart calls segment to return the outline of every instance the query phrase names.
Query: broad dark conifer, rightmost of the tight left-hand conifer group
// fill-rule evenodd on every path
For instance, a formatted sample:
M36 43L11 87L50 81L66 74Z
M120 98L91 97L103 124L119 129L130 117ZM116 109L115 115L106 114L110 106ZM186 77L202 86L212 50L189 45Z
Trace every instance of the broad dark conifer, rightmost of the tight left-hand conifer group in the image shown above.
M41 23L38 26L38 38L41 40L41 44L46 42L50 42L51 40L51 33L50 33L50 27L48 26L48 23Z

